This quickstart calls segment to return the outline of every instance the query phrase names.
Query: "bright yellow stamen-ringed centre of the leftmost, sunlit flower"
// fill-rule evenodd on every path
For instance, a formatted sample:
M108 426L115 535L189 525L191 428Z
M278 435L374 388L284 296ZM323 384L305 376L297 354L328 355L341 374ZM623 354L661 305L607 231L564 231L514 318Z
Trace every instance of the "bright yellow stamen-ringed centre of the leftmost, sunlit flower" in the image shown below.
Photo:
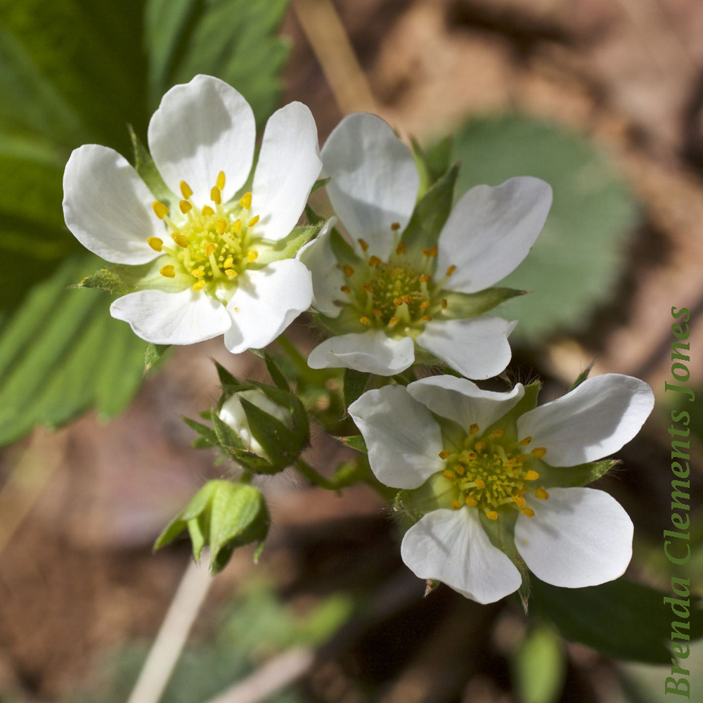
M245 193L238 202L223 205L224 183L221 171L210 191L213 205L198 208L191 200L191 187L181 181L183 200L179 209L183 217L179 224L169 217L166 205L153 203L155 214L169 227L173 245L165 245L159 237L149 237L147 242L153 250L166 254L162 276L188 276L193 290L205 289L226 301L236 289L237 276L259 256L251 245L261 234L254 232L259 217L251 217L252 194Z

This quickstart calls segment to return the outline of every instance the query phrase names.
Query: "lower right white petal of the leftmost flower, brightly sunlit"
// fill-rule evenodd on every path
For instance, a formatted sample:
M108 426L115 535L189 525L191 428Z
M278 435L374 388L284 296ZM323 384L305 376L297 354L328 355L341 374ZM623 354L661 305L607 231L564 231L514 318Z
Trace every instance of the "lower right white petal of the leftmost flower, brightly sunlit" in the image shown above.
M224 345L232 354L262 349L310 307L310 271L295 259L281 259L239 277L227 304L232 326Z

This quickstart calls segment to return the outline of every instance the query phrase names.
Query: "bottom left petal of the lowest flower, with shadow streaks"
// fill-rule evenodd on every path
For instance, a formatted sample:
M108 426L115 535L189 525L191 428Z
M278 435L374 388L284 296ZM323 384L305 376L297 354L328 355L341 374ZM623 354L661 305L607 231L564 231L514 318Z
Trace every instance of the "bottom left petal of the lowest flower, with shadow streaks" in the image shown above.
M437 579L466 598L492 603L520 588L517 567L491 544L478 510L433 510L405 534L401 556L420 579Z

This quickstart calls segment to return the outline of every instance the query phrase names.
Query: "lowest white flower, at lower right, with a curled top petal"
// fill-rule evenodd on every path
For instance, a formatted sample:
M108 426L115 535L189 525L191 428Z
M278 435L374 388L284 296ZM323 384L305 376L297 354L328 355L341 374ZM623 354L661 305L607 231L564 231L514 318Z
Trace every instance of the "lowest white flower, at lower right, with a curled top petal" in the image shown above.
M652 390L605 374L528 410L535 401L521 384L496 393L446 375L371 390L349 407L375 476L400 489L422 486L415 495L429 509L401 545L420 578L488 603L520 588L520 559L565 588L624 573L632 523L610 495L576 485L577 467L637 434ZM496 534L507 536L503 549Z

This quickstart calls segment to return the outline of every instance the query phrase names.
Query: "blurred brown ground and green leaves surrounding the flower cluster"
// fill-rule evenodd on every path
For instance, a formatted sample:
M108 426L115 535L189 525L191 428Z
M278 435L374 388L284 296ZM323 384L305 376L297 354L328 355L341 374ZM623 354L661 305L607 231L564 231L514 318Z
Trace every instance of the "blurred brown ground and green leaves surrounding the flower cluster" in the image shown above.
M82 143L131 157L127 123L146 138L169 86L204 72L240 90L259 127L307 103L321 143L356 110L425 146L453 134L458 195L549 181L546 229L506 279L534 291L502 311L520 318L510 374L541 377L543 401L594 359L593 373L652 385L652 418L599 487L636 525L628 576L669 591L672 306L692 311L703 348L700 37L697 0L0 0L0 701L126 701L179 583L195 624L163 703L661 699L659 596L610 593L595 634L558 608L526 618L517 600L479 606L443 587L423 598L399 525L364 488L262 482L262 562L236 552L207 595L193 569L181 581L188 544L153 555L155 536L226 472L190 448L181 415L217 401L211 358L265 373L212 340L144 378L146 344L108 316L109 297L68 288L100 261L63 224L61 177ZM318 338L305 316L291 335L304 352ZM325 472L345 451L318 428L307 458ZM687 661L697 690L700 645Z

